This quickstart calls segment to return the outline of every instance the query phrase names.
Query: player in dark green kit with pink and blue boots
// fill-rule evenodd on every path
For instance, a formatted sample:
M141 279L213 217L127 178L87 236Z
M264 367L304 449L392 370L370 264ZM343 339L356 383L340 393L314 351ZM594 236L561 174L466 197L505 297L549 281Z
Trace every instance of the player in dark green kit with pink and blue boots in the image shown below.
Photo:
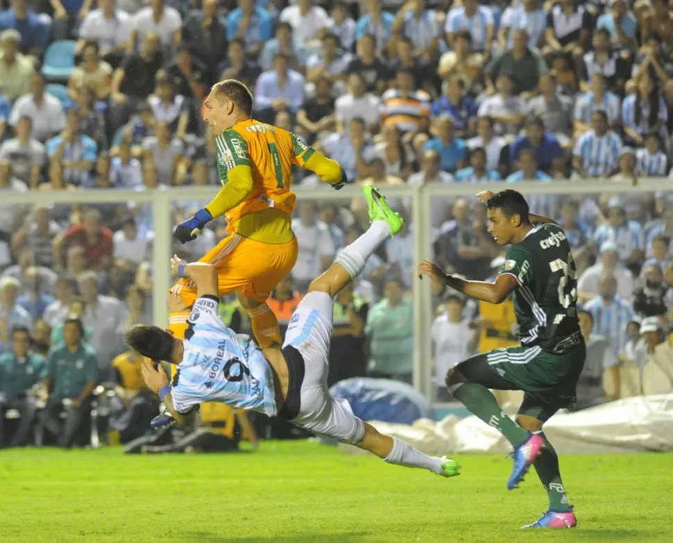
M495 283L465 281L446 275L432 262L418 272L458 292L491 303L513 296L520 345L468 358L448 371L446 384L472 413L500 431L514 448L507 482L516 488L534 465L550 499L549 510L527 527L565 528L577 524L565 496L559 457L542 426L560 408L574 402L575 386L586 353L577 321L577 276L563 228L532 215L516 190L477 194L486 203L488 232L510 245ZM523 390L516 421L498 406L488 389Z

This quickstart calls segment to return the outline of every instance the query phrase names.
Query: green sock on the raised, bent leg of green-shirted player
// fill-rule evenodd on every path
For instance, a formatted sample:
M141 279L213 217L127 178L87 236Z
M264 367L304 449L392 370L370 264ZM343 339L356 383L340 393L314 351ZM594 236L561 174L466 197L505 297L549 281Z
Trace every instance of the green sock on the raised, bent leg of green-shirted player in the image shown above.
M503 412L495 396L484 385L458 383L451 387L450 391L470 412L504 435L513 447L525 443L528 439L528 432Z

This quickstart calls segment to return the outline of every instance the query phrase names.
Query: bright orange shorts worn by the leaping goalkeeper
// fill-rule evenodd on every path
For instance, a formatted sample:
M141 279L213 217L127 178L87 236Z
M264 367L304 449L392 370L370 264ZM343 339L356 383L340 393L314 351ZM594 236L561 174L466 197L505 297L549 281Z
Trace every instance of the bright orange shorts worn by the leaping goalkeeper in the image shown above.
M239 292L257 301L265 301L275 285L287 276L297 261L297 238L282 244L250 240L239 234L225 237L199 262L209 262L217 269L220 296ZM171 289L187 306L196 301L196 285L182 278Z

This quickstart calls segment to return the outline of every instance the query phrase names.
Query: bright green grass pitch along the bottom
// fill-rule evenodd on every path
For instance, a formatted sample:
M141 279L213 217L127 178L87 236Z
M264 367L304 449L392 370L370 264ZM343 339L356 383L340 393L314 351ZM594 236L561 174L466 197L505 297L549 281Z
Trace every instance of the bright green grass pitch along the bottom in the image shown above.
M535 474L507 492L511 460L457 457L438 478L309 442L256 453L123 456L0 451L0 541L671 542L673 455L564 456L577 530L520 531L547 506Z

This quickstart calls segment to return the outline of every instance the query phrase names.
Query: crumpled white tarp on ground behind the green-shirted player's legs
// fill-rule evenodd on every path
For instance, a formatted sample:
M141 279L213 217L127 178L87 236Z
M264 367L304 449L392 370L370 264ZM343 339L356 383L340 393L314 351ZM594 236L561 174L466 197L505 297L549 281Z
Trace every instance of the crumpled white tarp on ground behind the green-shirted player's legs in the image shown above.
M412 426L371 421L378 431L400 437L428 454L506 453L511 446L477 417L449 416ZM673 451L673 394L638 396L574 413L557 413L545 424L554 449L568 453ZM357 449L341 445L344 452Z

